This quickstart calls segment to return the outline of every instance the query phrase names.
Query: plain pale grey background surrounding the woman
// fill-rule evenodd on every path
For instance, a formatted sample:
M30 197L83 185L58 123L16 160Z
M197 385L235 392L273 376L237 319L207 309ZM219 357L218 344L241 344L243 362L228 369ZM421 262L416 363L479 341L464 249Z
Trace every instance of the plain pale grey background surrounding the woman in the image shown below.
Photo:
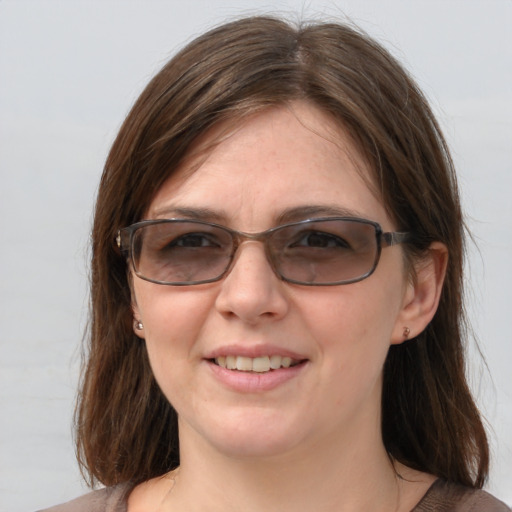
M470 245L471 382L489 489L512 503L512 1L0 0L0 511L84 492L71 418L88 236L109 145L183 43L240 14L350 18L411 70L459 170Z

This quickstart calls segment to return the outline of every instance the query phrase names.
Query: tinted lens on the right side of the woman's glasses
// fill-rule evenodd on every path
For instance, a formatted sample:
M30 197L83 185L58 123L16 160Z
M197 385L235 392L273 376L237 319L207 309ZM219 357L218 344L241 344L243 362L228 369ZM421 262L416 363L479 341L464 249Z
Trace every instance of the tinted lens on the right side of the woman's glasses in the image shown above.
M276 229L270 258L286 280L340 284L369 275L378 259L376 228L356 220L306 222Z

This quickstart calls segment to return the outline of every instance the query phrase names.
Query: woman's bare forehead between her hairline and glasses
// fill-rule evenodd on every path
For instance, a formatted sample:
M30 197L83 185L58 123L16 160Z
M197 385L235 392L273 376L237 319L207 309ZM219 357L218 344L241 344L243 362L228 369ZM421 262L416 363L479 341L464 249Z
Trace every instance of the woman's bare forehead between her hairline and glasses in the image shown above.
M215 221L264 229L283 210L323 206L382 222L369 176L350 135L316 107L295 102L205 134L157 192L148 217L195 208L218 214Z

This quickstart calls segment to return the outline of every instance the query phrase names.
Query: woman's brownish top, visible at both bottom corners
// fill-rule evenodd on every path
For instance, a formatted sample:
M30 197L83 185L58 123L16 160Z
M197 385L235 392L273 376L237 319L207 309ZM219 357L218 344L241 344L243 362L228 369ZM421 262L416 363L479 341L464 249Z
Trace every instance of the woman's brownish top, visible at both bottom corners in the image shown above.
M40 512L126 512L131 487L123 484L93 491L81 498ZM489 493L436 480L411 512L510 512Z

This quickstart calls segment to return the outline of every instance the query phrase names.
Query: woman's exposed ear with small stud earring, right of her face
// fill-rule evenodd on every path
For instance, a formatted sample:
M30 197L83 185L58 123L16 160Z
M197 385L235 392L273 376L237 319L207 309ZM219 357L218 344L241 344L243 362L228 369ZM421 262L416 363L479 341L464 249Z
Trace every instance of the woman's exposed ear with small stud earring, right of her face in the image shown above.
M414 265L415 275L406 285L391 344L414 338L432 320L439 305L447 263L448 249L441 242L434 242L425 257Z

